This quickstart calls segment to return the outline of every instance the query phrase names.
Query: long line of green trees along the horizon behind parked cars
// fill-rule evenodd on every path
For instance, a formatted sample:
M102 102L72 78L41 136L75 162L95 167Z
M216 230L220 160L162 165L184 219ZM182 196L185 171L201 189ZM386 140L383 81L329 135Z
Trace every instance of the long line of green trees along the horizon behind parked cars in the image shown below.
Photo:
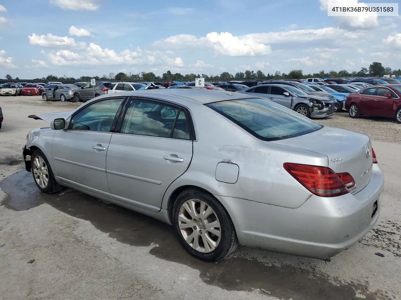
M91 78L95 78L97 81L105 81L105 80L118 80L118 81L154 81L154 80L174 80L174 81L192 81L195 78L204 77L205 80L215 81L215 80L260 80L260 79L303 79L310 77L317 78L336 78L336 77L366 77L366 76L383 76L383 75L400 75L401 70L392 70L391 68L385 68L381 62L372 62L367 68L361 68L358 72L348 72L347 70L334 71L330 70L329 72L325 72L324 70L314 73L314 74L304 74L301 69L294 69L286 73L275 72L274 74L263 73L261 70L257 70L256 72L253 70L246 70L245 72L237 72L236 74L231 74L229 72L223 72L219 74L181 74L181 73L172 73L168 70L166 73L163 73L162 76L156 76L153 72L140 72L138 74L134 74L132 72L124 73L119 72L117 74L110 72L109 74L104 74L103 76L81 76L79 78L67 77L67 76L55 76L53 74L48 75L43 78L34 78L32 81L41 81L41 80L80 80L80 81L90 81ZM7 80L13 80L10 74L6 75ZM20 80L18 77L14 78L14 80Z

